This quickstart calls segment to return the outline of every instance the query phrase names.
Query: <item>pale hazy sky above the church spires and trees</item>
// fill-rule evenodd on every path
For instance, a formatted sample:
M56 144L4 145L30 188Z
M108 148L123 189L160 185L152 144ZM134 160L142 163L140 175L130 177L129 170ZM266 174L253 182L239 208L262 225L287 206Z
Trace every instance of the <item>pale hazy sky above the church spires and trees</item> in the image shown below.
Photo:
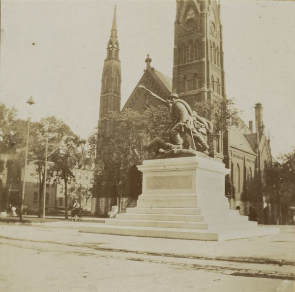
M87 138L98 122L115 4L121 107L147 53L172 77L175 0L1 0L0 102L23 119L55 115ZM274 157L295 146L294 15L294 1L221 0L227 97L246 124L263 104Z

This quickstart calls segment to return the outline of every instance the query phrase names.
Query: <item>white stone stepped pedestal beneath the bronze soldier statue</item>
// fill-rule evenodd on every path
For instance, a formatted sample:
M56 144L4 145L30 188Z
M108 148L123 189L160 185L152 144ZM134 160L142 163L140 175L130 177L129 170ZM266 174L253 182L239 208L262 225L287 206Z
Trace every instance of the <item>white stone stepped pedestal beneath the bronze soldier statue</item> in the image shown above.
M279 228L258 227L229 209L224 182L230 170L218 160L198 153L147 160L138 169L143 172L143 194L137 206L105 225L79 231L215 241L279 233Z

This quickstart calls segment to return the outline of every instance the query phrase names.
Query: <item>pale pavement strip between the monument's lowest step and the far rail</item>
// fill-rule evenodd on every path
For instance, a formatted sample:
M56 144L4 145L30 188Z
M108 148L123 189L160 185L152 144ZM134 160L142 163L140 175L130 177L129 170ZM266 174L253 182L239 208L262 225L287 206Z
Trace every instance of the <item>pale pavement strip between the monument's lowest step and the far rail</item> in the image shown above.
M103 218L95 218L104 220ZM99 250L132 252L177 257L216 260L235 260L273 264L295 262L295 226L279 226L280 234L227 241L199 241L152 237L134 237L78 232L79 226L101 223L55 221L35 223L33 226L1 228L0 235L24 240L52 241L62 244L92 247ZM8 227L8 226L7 226ZM11 228L10 228L11 227ZM44 228L42 228L44 227ZM278 226L275 226L278 227ZM45 230L45 228L47 230ZM53 234L49 236L48 228ZM67 231L64 231L67 230ZM17 232L16 232L17 231Z

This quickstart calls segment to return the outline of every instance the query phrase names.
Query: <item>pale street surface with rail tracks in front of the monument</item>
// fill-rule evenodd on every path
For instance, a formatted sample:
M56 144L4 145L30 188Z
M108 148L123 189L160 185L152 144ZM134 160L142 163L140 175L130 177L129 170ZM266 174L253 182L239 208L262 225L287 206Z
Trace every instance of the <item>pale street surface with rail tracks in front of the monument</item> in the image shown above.
M295 227L222 242L0 225L1 292L294 292Z

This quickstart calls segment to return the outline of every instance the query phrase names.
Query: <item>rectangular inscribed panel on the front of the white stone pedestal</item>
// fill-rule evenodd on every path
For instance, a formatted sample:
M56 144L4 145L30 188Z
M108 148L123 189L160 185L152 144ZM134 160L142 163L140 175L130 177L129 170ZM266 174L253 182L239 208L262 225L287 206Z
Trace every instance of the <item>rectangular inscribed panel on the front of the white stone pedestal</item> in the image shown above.
M147 190L192 189L192 175L148 176Z

